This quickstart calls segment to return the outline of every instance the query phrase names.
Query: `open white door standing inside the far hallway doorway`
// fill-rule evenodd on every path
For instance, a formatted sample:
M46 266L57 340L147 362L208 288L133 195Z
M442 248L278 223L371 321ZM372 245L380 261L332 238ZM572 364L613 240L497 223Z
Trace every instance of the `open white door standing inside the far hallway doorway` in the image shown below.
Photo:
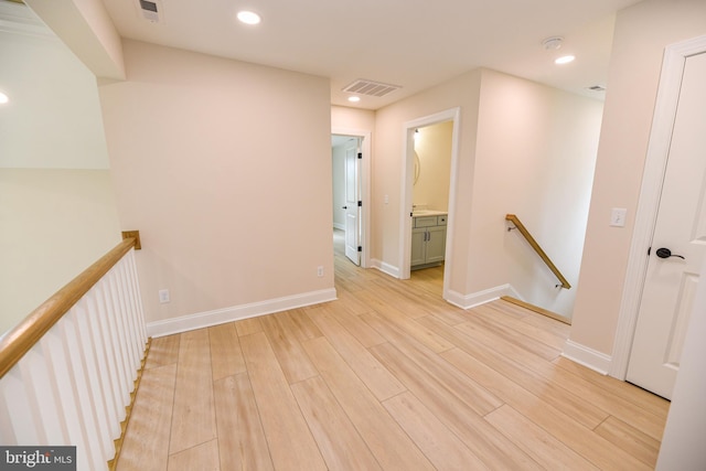
M361 182L359 146L356 140L345 149L345 256L355 265L361 265L359 245L361 239Z

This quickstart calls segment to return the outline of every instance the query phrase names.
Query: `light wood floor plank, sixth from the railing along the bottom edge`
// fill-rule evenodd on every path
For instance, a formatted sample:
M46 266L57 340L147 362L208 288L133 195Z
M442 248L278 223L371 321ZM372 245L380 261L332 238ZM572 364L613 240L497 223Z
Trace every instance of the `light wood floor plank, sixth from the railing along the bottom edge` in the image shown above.
M383 469L435 469L328 340L311 340L304 349Z

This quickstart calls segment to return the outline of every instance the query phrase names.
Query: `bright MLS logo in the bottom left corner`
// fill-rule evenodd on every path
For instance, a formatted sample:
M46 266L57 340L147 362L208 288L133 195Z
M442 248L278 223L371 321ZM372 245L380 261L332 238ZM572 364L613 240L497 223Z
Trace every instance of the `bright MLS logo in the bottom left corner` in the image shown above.
M76 471L76 447L0 447L0 469Z

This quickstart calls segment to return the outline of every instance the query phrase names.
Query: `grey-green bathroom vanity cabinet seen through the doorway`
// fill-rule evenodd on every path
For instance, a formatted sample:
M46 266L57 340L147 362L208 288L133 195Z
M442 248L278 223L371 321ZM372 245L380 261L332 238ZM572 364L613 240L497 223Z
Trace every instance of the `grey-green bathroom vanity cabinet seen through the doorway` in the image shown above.
M447 214L413 215L411 269L439 265L446 254Z

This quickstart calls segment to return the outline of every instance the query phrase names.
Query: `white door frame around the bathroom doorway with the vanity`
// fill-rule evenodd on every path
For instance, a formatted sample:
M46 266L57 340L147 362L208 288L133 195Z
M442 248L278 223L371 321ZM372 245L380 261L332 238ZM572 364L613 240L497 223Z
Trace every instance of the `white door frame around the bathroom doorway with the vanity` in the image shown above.
M451 131L451 173L449 175L449 217L447 220L446 255L443 264L443 299L449 298L450 275L453 265L453 228L456 223L456 194L458 181L459 141L461 129L461 108L450 108L434 115L424 116L403 124L403 158L402 195L399 214L399 278L410 277L411 258L411 212L414 168L415 168L415 129L439 122L452 121Z

